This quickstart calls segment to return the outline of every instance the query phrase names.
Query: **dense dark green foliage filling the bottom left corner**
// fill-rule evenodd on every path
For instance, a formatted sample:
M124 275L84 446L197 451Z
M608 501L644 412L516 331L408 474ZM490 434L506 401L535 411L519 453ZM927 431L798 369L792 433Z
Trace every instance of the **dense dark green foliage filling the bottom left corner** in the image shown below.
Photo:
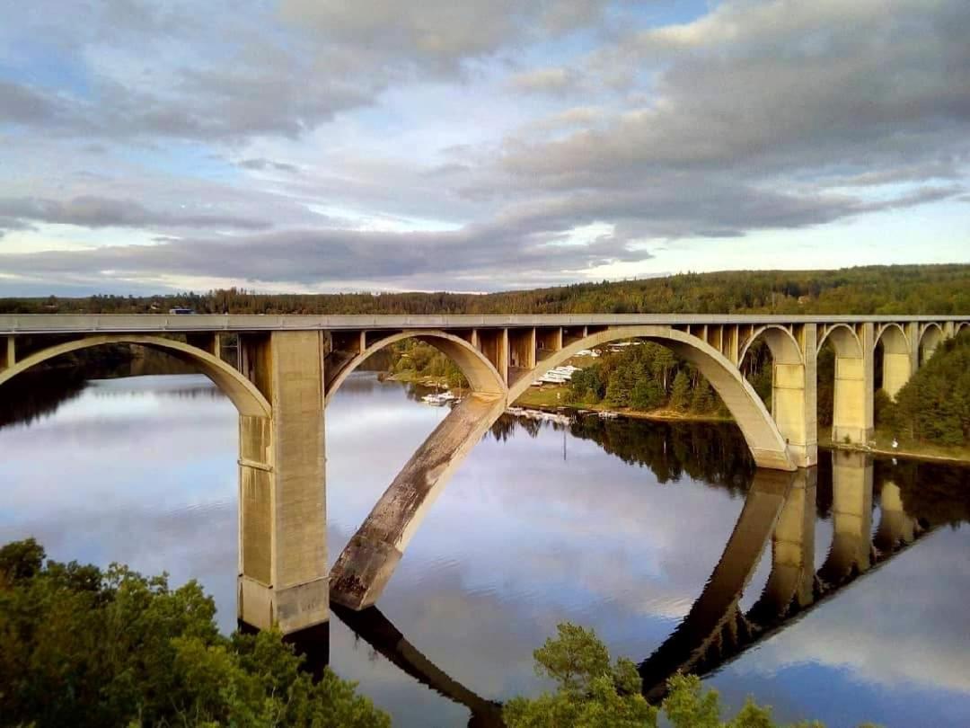
M195 581L44 558L0 548L4 724L390 725L329 669L313 682L278 633L220 635Z

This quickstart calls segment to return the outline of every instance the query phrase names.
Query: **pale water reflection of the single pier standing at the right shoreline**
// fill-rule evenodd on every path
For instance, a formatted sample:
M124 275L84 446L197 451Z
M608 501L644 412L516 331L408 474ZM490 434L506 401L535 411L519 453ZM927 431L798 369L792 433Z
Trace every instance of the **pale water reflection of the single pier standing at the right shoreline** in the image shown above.
M832 525L832 546L820 573L837 583L870 566L872 461L864 453L832 452Z

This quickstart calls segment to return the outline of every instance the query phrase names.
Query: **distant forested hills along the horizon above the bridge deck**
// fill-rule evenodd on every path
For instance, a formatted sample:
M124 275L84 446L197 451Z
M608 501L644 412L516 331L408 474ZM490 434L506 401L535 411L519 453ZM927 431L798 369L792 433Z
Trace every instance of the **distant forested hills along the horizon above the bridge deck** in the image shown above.
M962 314L970 266L730 271L467 293L263 295L239 288L165 296L0 299L0 314Z

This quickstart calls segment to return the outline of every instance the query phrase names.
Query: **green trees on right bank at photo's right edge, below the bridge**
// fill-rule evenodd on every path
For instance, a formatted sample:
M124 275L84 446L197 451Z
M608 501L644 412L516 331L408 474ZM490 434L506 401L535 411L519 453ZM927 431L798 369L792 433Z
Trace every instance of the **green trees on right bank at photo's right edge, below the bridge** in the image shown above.
M883 419L904 437L942 446L970 442L970 331L938 347L932 358L884 405Z

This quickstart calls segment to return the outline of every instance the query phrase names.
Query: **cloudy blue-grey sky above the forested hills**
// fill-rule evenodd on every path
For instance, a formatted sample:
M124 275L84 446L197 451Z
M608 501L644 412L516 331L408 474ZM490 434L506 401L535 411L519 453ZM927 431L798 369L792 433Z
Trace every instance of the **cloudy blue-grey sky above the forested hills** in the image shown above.
M970 261L966 0L34 0L0 295Z

